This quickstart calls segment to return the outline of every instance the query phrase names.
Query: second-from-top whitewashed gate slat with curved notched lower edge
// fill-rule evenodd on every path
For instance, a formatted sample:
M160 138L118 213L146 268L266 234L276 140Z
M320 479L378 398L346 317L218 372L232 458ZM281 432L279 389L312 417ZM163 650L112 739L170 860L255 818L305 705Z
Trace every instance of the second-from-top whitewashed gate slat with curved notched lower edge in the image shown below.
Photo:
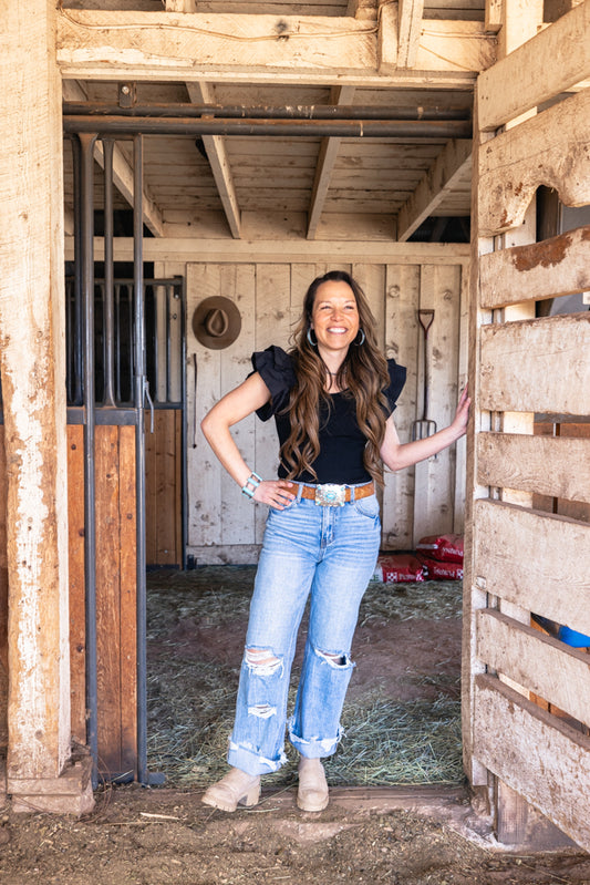
M539 185L555 188L567 206L590 203L588 142L590 90L482 145L479 233L517 227Z

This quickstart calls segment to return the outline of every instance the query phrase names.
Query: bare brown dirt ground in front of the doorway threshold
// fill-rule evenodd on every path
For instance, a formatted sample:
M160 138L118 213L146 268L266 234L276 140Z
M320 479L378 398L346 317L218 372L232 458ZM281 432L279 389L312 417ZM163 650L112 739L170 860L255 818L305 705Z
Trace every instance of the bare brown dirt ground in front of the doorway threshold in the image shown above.
M197 791L120 786L77 821L0 811L2 885L588 885L590 856L507 854L473 825L452 788L414 788L393 809L390 792L337 790L320 814L299 812L292 789L235 814ZM422 790L422 792L421 792ZM426 790L426 793L424 792ZM445 796L445 790L448 791ZM371 797L372 793L372 797Z

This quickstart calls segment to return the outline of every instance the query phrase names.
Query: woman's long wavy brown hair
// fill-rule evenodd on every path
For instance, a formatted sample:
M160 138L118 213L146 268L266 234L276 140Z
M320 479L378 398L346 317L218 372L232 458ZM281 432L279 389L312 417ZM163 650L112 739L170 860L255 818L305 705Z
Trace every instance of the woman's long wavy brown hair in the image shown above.
M356 402L359 428L366 436L364 465L372 478L381 485L383 480L379 453L385 435L389 411L387 400L383 393L390 383L387 363L377 348L375 319L366 297L359 284L343 270L330 270L322 277L317 277L303 300L301 319L292 335L294 347L289 351L297 381L286 410L291 423L291 433L281 446L281 461L289 471L288 477L291 480L303 471L318 478L311 465L320 453L320 403L324 401L330 408L331 400L325 392L328 367L318 349L310 343L308 332L311 328L311 315L318 289L323 282L332 280L346 282L352 289L359 311L360 329L364 332L362 344L353 342L350 346L335 380L339 388Z

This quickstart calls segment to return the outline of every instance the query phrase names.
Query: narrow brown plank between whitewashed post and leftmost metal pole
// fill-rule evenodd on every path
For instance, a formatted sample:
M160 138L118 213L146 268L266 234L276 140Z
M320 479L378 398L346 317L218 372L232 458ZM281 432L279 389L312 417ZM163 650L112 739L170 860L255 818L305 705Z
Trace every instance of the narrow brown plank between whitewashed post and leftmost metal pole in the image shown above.
M84 428L68 426L68 552L72 735L86 743L86 604L84 580Z

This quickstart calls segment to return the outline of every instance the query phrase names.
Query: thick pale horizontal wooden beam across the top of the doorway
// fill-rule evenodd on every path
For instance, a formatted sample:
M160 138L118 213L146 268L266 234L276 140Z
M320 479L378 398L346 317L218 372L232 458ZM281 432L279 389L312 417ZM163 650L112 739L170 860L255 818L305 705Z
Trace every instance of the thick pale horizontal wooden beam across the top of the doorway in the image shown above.
M376 27L344 17L104 12L59 8L62 74L86 80L333 83L451 88L496 58L482 22L435 21L416 74L379 73Z

